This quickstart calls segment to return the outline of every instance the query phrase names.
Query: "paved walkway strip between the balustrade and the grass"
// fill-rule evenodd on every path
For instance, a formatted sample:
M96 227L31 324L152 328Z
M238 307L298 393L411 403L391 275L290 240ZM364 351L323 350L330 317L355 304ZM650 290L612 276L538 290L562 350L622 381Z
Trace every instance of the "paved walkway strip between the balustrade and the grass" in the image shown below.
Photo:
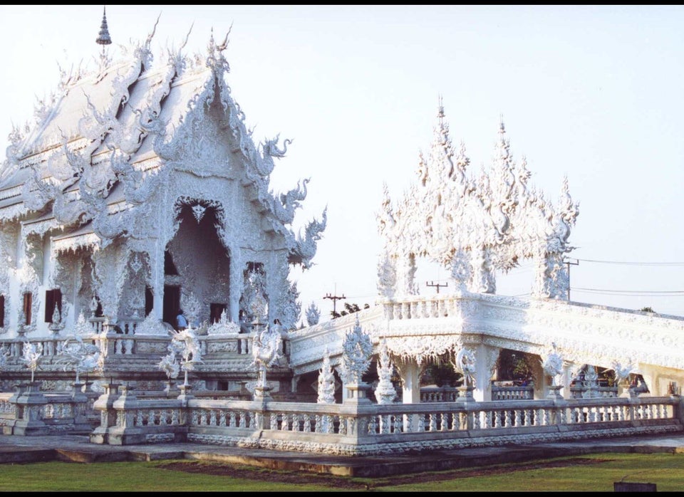
M548 457L598 452L684 453L684 434L631 436L546 444L451 449L390 456L327 456L301 452L243 449L204 444L150 444L113 446L90 444L88 436L0 435L0 463L36 461L152 461L203 459L249 464L270 469L314 471L343 476L388 476L487 464L530 461Z

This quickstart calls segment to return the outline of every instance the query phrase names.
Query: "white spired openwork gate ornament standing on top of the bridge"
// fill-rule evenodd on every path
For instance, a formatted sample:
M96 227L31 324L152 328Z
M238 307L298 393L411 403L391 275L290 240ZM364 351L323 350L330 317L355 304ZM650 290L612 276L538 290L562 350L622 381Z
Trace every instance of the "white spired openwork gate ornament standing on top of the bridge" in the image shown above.
M378 219L383 251L378 291L385 298L415 294L413 265L427 258L450 271L457 291L494 293L497 271L507 273L526 258L537 261L532 294L566 298L564 254L579 214L567 179L558 205L528 183L527 162L516 163L503 122L492 166L470 177L465 145L452 146L440 103L429 154L421 152L416 179L395 202L384 187ZM393 262L392 283L388 261Z

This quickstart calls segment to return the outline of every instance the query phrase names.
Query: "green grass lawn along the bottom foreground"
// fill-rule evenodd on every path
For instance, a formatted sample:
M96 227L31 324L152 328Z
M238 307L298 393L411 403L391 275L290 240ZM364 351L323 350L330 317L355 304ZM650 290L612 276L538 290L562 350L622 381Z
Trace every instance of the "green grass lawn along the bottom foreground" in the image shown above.
M170 461L1 464L0 491L613 491L613 482L655 483L657 491L684 490L684 454L590 454L527 464L485 466L388 478L296 474L201 461L182 462L235 476L164 469ZM551 465L551 466L549 466ZM235 474L235 473L234 473ZM464 477L465 476L465 477ZM287 481L271 481L286 479ZM306 478L305 483L304 478ZM341 486L346 484L347 486Z

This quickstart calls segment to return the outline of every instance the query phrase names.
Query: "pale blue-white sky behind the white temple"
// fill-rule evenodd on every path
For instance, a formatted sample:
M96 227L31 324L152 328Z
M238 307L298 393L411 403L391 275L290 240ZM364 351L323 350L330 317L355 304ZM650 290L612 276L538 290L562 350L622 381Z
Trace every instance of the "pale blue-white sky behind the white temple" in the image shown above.
M0 6L4 147L60 66L93 64L102 13ZM271 187L310 178L295 231L328 209L314 266L291 271L302 319L311 303L323 319L333 303L375 303L383 184L398 199L413 182L440 96L472 174L492 164L503 120L546 199L568 178L571 300L684 316L684 6L110 5L110 54L157 17L155 55L188 32L185 52L205 53L212 28L220 41L232 26L227 82L246 124L255 140L293 140ZM447 275L420 263L420 293ZM528 298L532 281L523 261L497 293Z

